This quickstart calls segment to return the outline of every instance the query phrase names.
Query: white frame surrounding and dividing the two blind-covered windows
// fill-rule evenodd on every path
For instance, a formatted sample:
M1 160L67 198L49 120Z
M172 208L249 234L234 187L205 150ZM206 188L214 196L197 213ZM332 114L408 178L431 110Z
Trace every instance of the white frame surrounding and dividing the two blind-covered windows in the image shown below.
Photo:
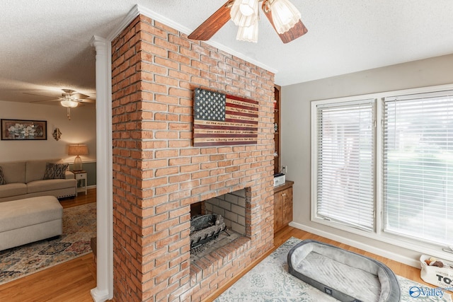
M451 257L451 253L447 253L442 251L442 248L445 248L445 245L436 245L433 243L428 243L422 240L416 240L415 238L408 238L406 236L401 236L394 233L388 233L384 231L384 202L383 202L383 175L384 175L384 168L383 168L383 127L382 124L384 122L383 115L384 115L384 98L389 97L396 97L402 95L411 95L411 94L418 94L418 93L437 93L440 91L449 91L453 90L453 84L447 85L439 85L439 86L426 86L421 88L410 88L410 89L403 89L398 91L385 91L381 93L369 93L365 95L354 95L349 97L342 97L342 98L331 98L331 99L322 99L322 100L312 100L310 104L310 125L311 125L311 138L310 138L310 151L311 151L311 168L310 168L310 180L311 180L311 193L310 193L310 219L312 222L320 223L324 226L329 226L331 228L338 229L340 231L345 231L348 233L353 233L358 236L363 236L366 238L370 238L373 240L382 241L384 243L389 243L391 245L396 245L401 248L407 248L413 251L430 254L430 255L437 255L437 257ZM376 124L377 127L375 129L376 134L376 141L375 141L375 167L374 171L376 173L374 177L375 181L375 199L374 199L374 207L375 207L375 215L374 215L374 231L368 232L363 231L358 228L354 228L352 226L347 226L342 223L337 223L335 221L327 221L325 219L321 219L316 216L316 185L317 185L317 111L316 105L319 104L330 104L330 103L344 103L350 101L357 101L357 100L364 100L364 99L372 99L376 100Z

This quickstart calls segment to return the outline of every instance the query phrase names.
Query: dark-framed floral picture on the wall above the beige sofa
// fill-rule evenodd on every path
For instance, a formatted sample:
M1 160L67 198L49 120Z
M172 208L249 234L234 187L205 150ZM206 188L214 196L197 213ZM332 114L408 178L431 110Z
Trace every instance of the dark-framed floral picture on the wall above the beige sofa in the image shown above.
M1 140L45 140L47 121L1 119Z

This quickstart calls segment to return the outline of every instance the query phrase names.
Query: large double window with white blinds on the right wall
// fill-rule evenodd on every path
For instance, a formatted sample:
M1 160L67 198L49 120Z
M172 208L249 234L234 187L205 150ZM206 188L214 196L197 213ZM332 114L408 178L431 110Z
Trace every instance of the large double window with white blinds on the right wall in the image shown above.
M420 91L311 103L312 219L453 244L453 91Z

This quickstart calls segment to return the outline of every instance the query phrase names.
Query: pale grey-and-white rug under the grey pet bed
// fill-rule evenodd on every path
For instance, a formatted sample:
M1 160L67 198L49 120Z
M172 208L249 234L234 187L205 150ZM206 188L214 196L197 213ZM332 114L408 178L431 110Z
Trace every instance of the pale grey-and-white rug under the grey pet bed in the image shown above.
M289 250L299 242L301 240L297 238L287 240L214 301L337 301L289 274L287 255ZM433 289L401 276L397 276L397 279L401 287L401 301L452 301L451 296L444 289Z

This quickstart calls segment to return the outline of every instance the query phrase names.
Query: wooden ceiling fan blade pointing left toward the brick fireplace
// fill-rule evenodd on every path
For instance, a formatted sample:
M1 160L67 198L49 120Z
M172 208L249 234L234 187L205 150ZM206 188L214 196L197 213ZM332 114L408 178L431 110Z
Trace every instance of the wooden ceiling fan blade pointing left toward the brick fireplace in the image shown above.
M229 16L229 12L233 2L234 0L226 1L226 4L224 4L215 13L213 13L210 18L207 18L205 22L198 26L193 33L188 35L188 38L190 40L210 40L210 38L231 18Z

